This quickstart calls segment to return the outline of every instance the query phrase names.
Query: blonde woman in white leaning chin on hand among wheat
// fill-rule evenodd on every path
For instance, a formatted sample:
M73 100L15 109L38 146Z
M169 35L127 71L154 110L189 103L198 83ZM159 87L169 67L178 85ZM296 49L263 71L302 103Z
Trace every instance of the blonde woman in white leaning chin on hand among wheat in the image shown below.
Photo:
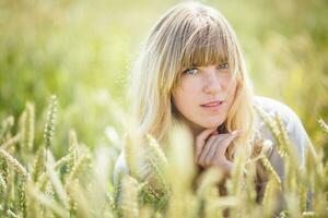
M285 105L254 96L242 49L234 31L215 9L196 2L171 9L152 29L132 70L131 90L138 132L165 144L174 120L187 124L195 138L195 161L200 171L216 166L230 172L234 150L253 147L256 138L272 134L254 111L278 113L304 165L311 144L297 116ZM274 147L268 158L283 180L283 160ZM129 172L124 153L119 171ZM259 178L258 198L265 179Z

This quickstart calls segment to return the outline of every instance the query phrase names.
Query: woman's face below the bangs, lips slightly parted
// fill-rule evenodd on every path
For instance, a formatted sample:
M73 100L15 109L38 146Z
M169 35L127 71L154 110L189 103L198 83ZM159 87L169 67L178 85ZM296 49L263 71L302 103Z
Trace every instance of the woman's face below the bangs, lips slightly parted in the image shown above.
M194 132L221 125L233 104L237 83L227 63L183 72L173 102Z

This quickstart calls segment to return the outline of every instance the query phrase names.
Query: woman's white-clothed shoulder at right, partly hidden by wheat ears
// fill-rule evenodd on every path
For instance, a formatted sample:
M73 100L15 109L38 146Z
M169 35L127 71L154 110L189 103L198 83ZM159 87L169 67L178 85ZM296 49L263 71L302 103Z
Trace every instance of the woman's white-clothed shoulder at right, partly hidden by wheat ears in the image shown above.
M291 146L296 152L295 154L298 158L298 166L300 168L304 167L305 154L308 152L313 153L314 148L305 131L305 128L296 112L293 111L293 109L291 109L285 104L268 97L255 96L253 98L253 102L257 108L261 109L270 118L274 118L276 114L278 114L281 118L283 125L288 132L288 136L291 141ZM258 112L255 114L255 129L256 133L259 133L258 135L260 135L260 140L270 140L272 142L272 149L270 149L267 156L270 160L270 164L272 165L272 168L276 170L281 181L283 181L285 178L284 159L278 153L278 143L276 142L270 128L267 126L263 119ZM265 195L267 182L267 171L265 167L261 164L259 164L257 165L256 183L258 187L258 197L260 201ZM283 208L282 204L283 201L281 201L281 204L279 204L280 208Z

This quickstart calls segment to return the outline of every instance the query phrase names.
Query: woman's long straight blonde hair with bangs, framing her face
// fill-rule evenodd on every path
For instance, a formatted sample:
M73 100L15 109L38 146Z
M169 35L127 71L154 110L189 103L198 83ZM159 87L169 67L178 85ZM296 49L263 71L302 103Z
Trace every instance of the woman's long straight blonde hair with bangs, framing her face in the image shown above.
M152 29L132 68L131 100L138 132L164 142L176 119L172 95L183 70L223 61L229 62L237 81L225 129L245 131L227 150L232 159L232 149L245 146L253 135L253 89L234 31L218 10L201 3L185 2L168 10Z

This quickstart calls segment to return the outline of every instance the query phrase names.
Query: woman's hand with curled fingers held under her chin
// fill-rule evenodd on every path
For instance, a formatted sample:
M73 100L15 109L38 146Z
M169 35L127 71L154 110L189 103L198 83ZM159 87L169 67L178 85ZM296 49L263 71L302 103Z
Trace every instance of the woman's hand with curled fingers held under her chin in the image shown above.
M225 152L232 141L242 133L243 131L234 131L219 134L215 129L202 131L196 137L196 162L202 168L218 166L223 171L231 171L233 162L226 159Z

